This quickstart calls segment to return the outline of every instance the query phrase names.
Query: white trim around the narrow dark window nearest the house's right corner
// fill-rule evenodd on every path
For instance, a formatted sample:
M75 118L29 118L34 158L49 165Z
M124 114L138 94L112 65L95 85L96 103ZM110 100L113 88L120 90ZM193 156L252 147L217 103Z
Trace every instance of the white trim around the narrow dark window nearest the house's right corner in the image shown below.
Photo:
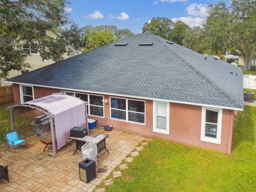
M206 109L218 110L218 124L217 124L217 136L216 136L216 138L205 136ZM220 144L221 130L222 130L222 108L212 108L212 107L202 106L201 141Z

